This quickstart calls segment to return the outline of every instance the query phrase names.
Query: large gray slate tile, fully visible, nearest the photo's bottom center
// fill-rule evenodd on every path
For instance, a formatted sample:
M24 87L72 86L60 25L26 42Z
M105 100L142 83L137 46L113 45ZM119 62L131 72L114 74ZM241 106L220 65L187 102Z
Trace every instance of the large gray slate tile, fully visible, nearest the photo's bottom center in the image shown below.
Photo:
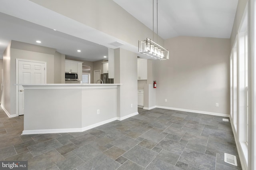
M129 160L132 160L136 164L146 167L157 154L157 152L137 145L134 146L134 148L130 149L128 152L124 153L122 156Z

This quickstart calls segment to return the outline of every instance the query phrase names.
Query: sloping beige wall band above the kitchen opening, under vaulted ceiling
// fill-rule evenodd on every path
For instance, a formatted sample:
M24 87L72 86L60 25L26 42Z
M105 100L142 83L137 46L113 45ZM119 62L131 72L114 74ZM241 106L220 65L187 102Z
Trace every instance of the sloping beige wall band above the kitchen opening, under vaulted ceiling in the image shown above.
M152 30L112 0L30 1L134 46L138 46L138 40L152 39ZM164 45L164 40L158 37L158 43Z

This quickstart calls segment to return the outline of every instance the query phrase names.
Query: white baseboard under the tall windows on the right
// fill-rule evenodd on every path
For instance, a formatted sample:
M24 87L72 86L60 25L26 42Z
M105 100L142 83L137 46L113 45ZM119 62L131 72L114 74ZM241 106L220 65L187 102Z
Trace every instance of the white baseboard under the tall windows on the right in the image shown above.
M243 152L243 147L242 145L240 144L239 140L238 140L238 136L236 134L236 130L234 128L234 125L233 125L233 120L232 120L232 117L230 117L230 123L231 123L231 127L232 127L232 131L233 131L233 134L234 134L234 138L235 138L235 141L236 141L236 148L237 148L237 152L238 152L238 156L239 156L239 159L240 159L240 162L241 162L241 166L242 166L242 169L243 170L248 170L248 161L246 160L246 157L248 155L248 153L244 153ZM245 144L244 144L245 145ZM248 148L244 148L245 151L248 151Z

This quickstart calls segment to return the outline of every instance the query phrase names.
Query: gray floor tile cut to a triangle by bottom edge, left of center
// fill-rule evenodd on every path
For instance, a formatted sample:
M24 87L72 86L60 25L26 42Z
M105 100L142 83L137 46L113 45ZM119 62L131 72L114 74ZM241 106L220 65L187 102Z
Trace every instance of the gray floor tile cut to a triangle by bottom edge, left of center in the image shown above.
M115 160L112 160L108 156L104 154L100 154L96 156L95 158L92 158L92 160L86 162L85 164L82 164L77 170L116 170L121 164L116 162Z

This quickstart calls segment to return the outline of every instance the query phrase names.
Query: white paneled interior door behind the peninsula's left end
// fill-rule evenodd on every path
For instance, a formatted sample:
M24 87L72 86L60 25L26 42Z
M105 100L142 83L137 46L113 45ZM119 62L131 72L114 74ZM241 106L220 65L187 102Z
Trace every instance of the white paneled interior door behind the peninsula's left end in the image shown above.
M18 61L18 84L44 84L45 63L32 61ZM24 115L24 89L22 85L18 87L18 112Z

